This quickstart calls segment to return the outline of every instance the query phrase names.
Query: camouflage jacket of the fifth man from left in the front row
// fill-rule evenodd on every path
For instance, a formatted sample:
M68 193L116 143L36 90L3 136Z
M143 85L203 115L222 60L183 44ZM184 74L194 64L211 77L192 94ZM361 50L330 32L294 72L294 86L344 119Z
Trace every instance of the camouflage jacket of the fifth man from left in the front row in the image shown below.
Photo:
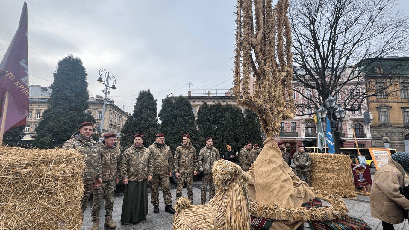
M177 147L175 157L173 158L175 173L193 176L193 171L198 171L196 156L196 149L190 142L187 146L181 145Z

